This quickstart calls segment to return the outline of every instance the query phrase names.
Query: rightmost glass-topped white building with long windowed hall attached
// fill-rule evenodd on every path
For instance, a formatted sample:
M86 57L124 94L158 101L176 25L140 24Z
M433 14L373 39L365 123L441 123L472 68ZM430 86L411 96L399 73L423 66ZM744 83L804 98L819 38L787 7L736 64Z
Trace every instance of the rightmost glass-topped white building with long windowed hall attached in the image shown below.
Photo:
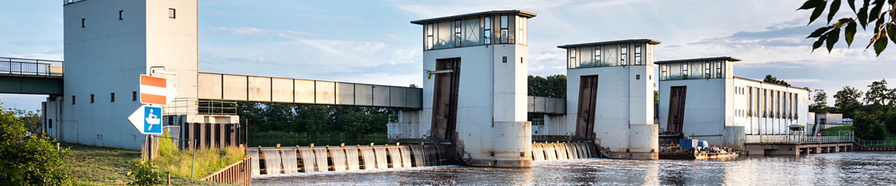
M732 57L659 64L659 128L664 133L743 147L745 135L792 133L806 126L809 91L734 77Z

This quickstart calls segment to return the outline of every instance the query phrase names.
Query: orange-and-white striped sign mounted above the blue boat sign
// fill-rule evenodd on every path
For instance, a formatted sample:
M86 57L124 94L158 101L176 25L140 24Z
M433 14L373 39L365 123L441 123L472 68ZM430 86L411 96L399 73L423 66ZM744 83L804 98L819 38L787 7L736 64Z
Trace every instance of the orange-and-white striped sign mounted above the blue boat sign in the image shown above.
M140 75L140 102L168 105L177 97L177 90L168 79Z

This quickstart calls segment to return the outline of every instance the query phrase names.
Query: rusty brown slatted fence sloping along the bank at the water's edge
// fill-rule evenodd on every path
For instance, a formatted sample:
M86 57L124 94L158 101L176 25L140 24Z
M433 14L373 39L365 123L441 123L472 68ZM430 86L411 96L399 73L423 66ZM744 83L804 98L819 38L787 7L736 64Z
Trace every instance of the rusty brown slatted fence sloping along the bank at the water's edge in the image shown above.
M252 157L246 156L237 163L224 166L218 171L202 177L202 181L221 182L234 185L252 185Z

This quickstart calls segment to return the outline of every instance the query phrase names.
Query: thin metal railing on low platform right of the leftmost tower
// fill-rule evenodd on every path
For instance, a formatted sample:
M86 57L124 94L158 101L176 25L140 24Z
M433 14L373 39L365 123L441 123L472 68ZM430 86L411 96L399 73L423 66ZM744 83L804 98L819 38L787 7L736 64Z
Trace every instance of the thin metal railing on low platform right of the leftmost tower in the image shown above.
M165 106L165 115L237 115L237 101L176 98Z

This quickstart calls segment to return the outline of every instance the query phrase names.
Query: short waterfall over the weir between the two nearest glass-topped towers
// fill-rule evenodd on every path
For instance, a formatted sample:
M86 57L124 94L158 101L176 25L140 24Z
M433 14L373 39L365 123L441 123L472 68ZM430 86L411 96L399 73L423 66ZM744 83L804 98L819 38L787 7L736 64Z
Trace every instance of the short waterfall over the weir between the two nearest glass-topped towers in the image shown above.
M534 142L532 161L556 159L598 158L594 144L589 142Z

